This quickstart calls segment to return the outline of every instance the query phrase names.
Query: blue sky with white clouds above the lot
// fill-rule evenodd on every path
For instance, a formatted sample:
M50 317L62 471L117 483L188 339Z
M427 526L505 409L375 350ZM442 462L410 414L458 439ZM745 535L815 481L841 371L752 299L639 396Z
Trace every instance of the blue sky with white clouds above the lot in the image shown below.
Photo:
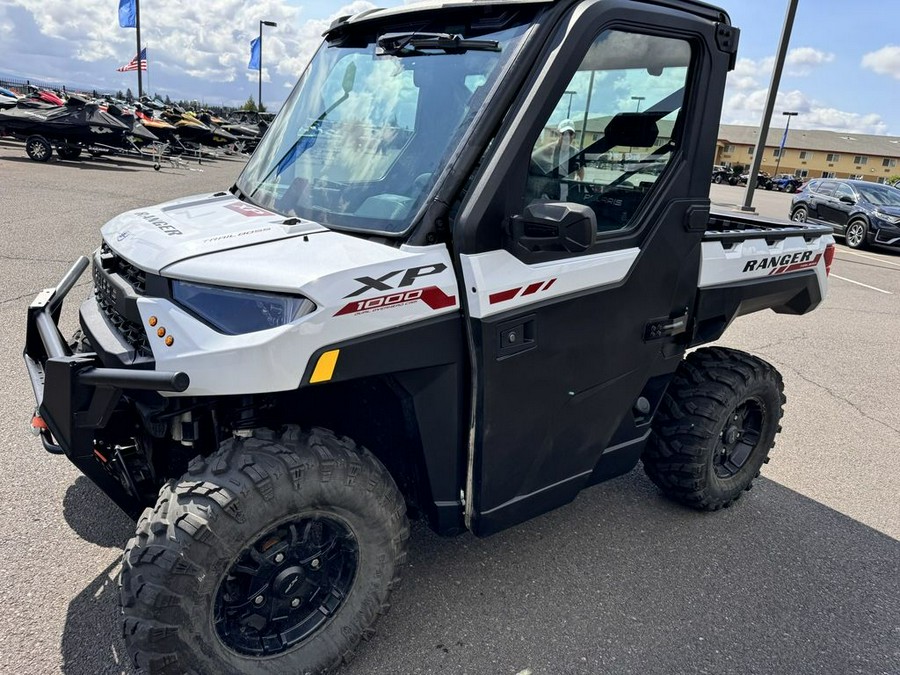
M758 126L788 0L712 0L741 29L721 122ZM240 105L257 96L247 69L259 20L263 101L276 108L336 16L403 0L141 0L150 60L145 90L173 99ZM137 91L118 73L135 55L134 29L120 28L118 0L0 0L0 76ZM900 1L799 0L772 127L900 136ZM146 74L145 74L146 78ZM577 101L573 102L577 110Z

